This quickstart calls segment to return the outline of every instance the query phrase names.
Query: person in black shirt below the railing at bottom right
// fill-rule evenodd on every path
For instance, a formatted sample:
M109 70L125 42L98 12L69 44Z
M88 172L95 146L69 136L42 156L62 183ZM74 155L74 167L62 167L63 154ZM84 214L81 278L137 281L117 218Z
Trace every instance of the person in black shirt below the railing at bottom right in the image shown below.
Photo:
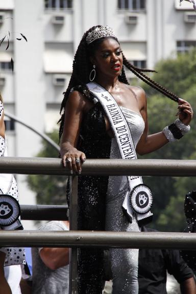
M153 232L142 227L142 232ZM179 283L181 293L196 293L196 284L192 269L180 256L179 250L140 249L139 250L139 294L166 294L167 272ZM174 292L175 283L169 278L170 292Z

